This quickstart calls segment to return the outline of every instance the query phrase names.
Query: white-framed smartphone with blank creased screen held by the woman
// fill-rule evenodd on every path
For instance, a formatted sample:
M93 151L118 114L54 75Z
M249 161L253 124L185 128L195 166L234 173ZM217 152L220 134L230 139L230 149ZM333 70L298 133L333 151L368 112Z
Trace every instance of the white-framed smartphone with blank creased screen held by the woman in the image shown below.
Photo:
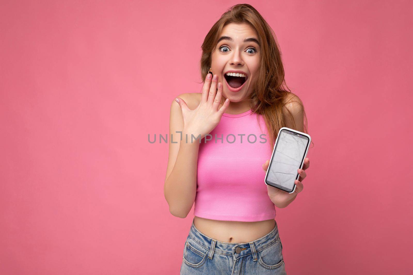
M265 184L288 193L295 191L295 180L299 179L311 137L294 129L282 127L275 140L273 154L265 174Z

